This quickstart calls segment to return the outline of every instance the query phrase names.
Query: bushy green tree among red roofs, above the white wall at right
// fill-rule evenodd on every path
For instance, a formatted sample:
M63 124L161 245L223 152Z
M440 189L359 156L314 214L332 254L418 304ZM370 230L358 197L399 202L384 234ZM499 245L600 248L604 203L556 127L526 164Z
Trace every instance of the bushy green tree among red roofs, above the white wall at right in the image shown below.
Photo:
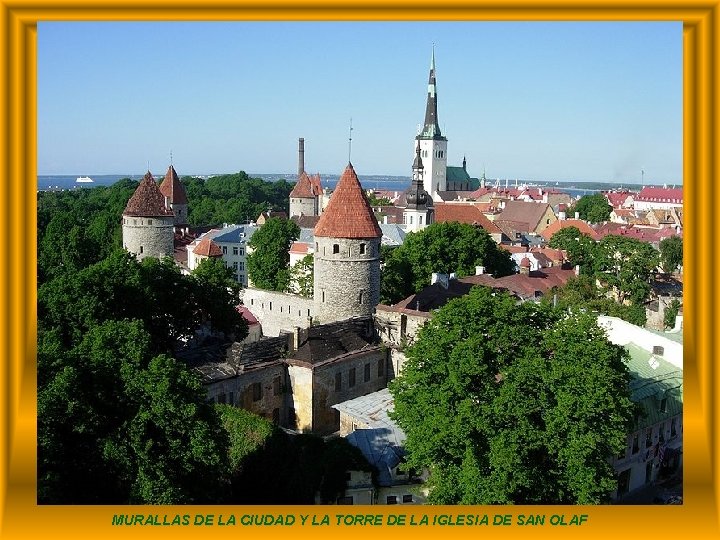
M595 255L595 276L615 291L619 303L641 304L648 298L650 279L659 263L655 248L611 234L598 242Z

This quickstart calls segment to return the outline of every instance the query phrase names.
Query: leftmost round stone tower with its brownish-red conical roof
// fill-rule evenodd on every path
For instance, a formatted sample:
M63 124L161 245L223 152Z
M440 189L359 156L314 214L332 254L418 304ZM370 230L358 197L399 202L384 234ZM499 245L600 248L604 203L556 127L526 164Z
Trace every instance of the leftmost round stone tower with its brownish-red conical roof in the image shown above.
M150 171L130 197L122 220L123 247L138 259L173 256L175 216Z

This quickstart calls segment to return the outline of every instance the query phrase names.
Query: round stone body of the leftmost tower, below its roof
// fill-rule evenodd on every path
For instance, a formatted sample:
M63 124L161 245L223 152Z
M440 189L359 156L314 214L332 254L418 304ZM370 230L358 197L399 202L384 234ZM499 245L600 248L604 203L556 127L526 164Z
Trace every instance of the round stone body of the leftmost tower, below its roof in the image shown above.
M173 256L173 216L123 216L122 231L123 247L138 260Z

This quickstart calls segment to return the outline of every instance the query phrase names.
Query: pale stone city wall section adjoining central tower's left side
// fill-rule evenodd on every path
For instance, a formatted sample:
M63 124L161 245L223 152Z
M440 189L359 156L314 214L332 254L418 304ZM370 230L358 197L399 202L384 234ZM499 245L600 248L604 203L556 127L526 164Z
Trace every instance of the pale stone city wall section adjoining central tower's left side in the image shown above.
M260 322L264 336L293 332L296 326L308 328L315 317L312 298L247 288L243 291L242 301Z

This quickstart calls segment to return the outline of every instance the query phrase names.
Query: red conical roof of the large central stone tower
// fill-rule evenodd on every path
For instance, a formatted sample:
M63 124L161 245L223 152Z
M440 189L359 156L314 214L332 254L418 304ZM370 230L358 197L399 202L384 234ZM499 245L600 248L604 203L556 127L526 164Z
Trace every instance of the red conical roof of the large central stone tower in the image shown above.
M351 163L343 171L327 208L315 226L315 236L329 238L380 238L375 219Z

